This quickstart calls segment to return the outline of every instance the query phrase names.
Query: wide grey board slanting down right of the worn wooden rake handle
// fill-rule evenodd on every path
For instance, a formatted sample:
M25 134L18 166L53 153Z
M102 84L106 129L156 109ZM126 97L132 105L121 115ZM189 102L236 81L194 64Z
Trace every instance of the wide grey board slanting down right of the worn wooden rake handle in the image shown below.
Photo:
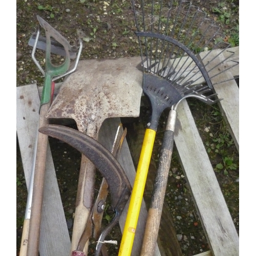
M175 143L212 255L239 255L239 237L187 102L177 110Z

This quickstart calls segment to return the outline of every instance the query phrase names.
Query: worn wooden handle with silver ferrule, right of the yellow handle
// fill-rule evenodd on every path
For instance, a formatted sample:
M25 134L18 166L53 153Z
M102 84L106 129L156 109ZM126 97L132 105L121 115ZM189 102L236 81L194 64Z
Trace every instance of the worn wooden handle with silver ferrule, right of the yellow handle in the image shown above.
M153 256L155 252L170 162L173 155L175 121L176 111L171 110L168 116L166 130L163 135L159 166L157 169L151 206L148 210L140 256Z

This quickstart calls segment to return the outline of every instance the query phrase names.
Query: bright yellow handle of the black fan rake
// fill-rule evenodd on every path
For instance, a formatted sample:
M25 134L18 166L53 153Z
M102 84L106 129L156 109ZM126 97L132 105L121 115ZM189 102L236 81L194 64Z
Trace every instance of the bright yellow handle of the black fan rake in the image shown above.
M146 129L118 256L130 256L156 131Z

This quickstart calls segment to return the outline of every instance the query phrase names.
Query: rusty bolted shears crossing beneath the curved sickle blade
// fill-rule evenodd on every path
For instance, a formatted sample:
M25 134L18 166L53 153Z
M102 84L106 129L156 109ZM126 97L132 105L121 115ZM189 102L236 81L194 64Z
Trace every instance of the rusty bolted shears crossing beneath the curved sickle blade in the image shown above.
M118 156L120 154L120 150L122 147L122 143L123 143L123 140L124 140L124 138L126 136L126 132L127 132L127 130L124 129L124 131L121 133L121 127L122 127L122 124L119 124L118 130L116 133L116 137L114 139L114 143L113 143L112 150L111 150L112 155L116 159L118 159ZM86 228L84 229L82 236L79 240L77 249L72 252L72 255L77 254L78 252L83 253L83 248L86 245L87 241L91 237L93 237L97 241L95 255L99 255L99 252L100 252L99 247L101 247L102 255L108 256L108 252L106 250L105 244L103 243L104 242L103 238L105 237L105 234L108 233L108 230L110 230L116 224L116 222L119 220L119 216L118 216L118 218L115 218L115 221L112 221L112 223L108 226L108 229L105 229L105 231L103 231L100 236L100 226L101 226L101 221L102 221L102 217L103 217L103 213L104 213L105 201L106 201L106 197L108 195L108 191L109 191L109 185L106 182L105 178L103 177L98 196L95 200L94 206L90 213L90 218L88 219Z

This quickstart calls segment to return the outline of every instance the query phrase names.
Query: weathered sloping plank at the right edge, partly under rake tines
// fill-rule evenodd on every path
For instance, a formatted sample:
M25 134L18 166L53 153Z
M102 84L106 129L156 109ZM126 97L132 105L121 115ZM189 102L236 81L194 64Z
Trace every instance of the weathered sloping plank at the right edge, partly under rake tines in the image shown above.
M218 53L218 51L216 51L215 53ZM209 56L205 58L205 61L207 61L208 57L211 58L212 54L209 54ZM210 70L211 68L215 67L217 63L220 63L224 59L225 59L225 56L223 54L220 54L218 58L216 58L214 61L211 61L206 66L206 70ZM218 71L216 69L213 71L210 71L209 72L210 76L214 76L217 73L221 72L221 70L225 70L226 69L225 65L226 65L225 63L220 65ZM212 78L211 82L218 83L219 81L225 81L229 79L233 79L233 75L230 71L227 71ZM236 81L233 79L227 82L216 84L214 86L214 89L216 93L218 93L218 97L223 98L223 100L219 102L219 106L225 118L225 121L229 127L229 132L239 152L239 88L238 88L238 85Z

